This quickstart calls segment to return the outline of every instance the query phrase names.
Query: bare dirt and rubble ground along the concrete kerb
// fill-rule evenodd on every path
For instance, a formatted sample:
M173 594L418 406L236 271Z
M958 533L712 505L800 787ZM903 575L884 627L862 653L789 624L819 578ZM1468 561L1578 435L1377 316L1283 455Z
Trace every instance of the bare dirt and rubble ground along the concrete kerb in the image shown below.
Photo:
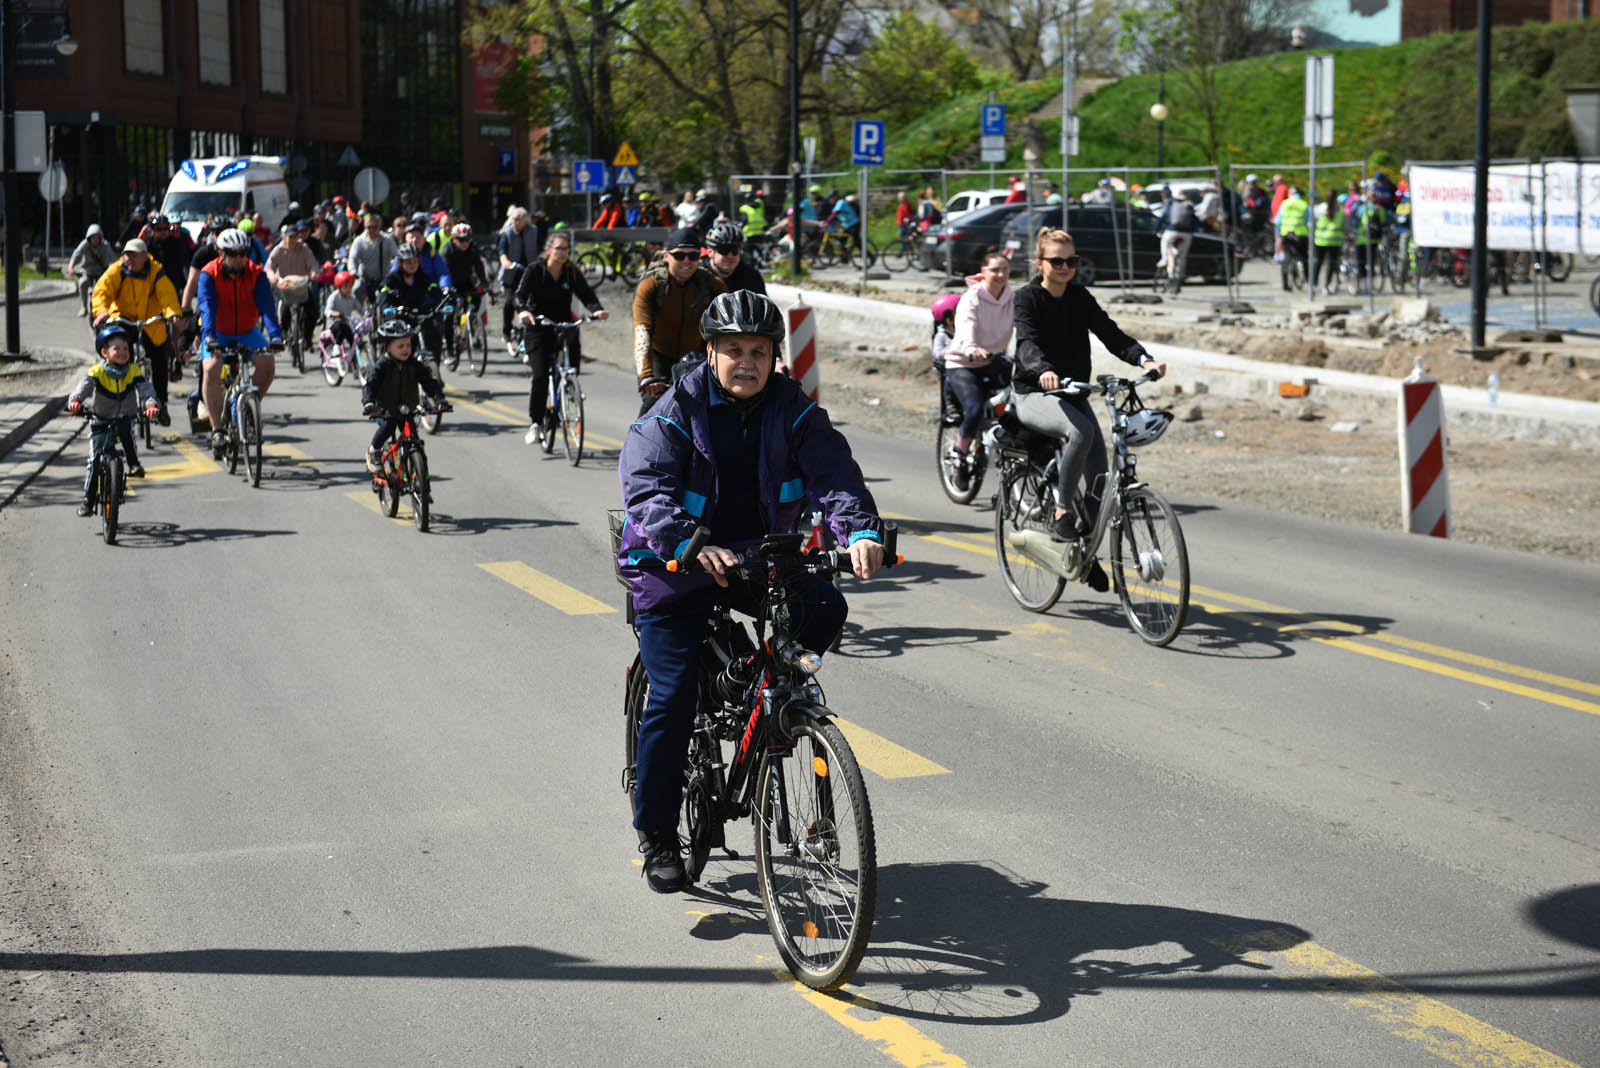
M1600 371L1566 353L1550 358L1539 345L1517 347L1493 363L1451 353L1461 337L1421 344L1350 347L1338 339L1293 331L1243 331L1173 325L1114 313L1141 341L1173 341L1194 349L1262 360L1342 368L1400 379L1418 355L1445 382L1482 389L1490 369L1502 390L1595 398ZM1163 334L1171 334L1163 336ZM1371 342L1368 342L1371 345ZM1518 353L1528 352L1526 361ZM1107 368L1110 369L1110 368ZM933 480L936 377L918 352L822 352L822 403L846 422L928 441ZM1400 459L1394 416L1341 412L1309 400L1258 403L1150 393L1173 408L1176 422L1139 454L1139 472L1171 496L1238 500L1261 508L1368 528L1400 529ZM1354 432L1331 427L1357 422ZM1451 435L1450 492L1458 540L1600 563L1600 454L1490 436Z

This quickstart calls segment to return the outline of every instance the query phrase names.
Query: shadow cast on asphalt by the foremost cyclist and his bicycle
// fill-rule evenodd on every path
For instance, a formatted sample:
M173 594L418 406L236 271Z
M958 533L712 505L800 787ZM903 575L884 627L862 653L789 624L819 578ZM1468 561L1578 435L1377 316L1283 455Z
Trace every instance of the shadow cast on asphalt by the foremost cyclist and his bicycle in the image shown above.
M1246 953L1310 940L1274 919L1054 899L1046 889L997 863L880 868L872 945L854 980L830 996L907 1020L1038 1023L1066 1015L1074 998L1118 986L1254 990L1272 966ZM699 916L694 937L768 934L747 867L694 892L730 910Z

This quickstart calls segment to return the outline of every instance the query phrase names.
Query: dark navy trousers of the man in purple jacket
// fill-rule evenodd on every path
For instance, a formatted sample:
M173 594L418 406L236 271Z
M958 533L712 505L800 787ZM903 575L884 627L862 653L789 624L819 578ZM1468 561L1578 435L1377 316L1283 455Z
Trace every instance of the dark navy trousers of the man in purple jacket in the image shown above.
M845 628L848 608L832 582L797 576L789 611L798 622L795 638L813 652L826 651ZM733 579L728 588L712 587L640 612L638 656L650 675L650 702L638 724L638 780L634 791L634 827L640 831L678 825L683 803L683 761L694 729L699 699L699 648L706 620L718 601L754 616L755 595Z

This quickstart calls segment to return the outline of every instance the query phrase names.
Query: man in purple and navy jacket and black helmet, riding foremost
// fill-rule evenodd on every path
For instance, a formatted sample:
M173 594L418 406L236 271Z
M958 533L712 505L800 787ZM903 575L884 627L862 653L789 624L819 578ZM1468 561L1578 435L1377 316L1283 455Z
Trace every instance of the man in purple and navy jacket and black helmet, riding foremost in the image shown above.
M707 363L632 425L621 459L627 524L618 566L650 676L634 828L645 879L658 894L686 884L677 825L706 620L717 603L757 611L757 592L728 574L736 550L792 531L813 499L850 547L856 576L883 564L883 524L850 443L797 382L773 374L784 337L778 305L757 293L726 293L706 309L699 331ZM698 556L704 572L666 571L701 526L710 531ZM816 576L795 584L795 638L827 649L845 625L845 600Z

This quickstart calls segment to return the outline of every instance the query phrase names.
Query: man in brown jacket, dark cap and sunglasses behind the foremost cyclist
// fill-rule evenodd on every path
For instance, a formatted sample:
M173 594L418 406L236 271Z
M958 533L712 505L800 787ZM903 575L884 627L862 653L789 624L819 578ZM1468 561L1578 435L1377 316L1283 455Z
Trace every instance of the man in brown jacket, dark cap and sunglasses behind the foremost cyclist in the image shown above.
M634 371L638 374L640 414L672 384L672 365L699 353L706 341L699 318L726 286L699 265L699 235L674 230L666 267L656 267L634 291Z

